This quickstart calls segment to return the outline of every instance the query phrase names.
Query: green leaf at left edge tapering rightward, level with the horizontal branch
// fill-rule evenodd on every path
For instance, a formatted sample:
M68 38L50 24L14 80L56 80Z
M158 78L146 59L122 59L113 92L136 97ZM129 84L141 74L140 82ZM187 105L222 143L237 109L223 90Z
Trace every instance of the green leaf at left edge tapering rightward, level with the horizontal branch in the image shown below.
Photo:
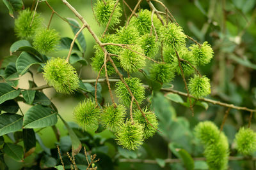
M8 83L0 83L0 104L20 95L20 89L13 89Z

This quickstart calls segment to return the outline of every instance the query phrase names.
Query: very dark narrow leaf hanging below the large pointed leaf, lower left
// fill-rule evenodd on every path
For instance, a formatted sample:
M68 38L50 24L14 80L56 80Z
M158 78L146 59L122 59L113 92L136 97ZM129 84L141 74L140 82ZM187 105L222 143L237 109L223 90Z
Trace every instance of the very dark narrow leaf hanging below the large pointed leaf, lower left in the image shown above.
M36 135L33 129L22 129L25 152L36 147ZM31 153L30 153L31 154Z

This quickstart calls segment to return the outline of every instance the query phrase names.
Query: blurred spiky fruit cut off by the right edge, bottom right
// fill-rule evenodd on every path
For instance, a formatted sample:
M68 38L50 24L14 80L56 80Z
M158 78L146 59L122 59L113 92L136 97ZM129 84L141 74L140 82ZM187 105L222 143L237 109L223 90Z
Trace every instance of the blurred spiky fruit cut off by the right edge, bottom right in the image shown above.
M256 151L256 133L252 129L241 127L236 134L238 152L250 155Z

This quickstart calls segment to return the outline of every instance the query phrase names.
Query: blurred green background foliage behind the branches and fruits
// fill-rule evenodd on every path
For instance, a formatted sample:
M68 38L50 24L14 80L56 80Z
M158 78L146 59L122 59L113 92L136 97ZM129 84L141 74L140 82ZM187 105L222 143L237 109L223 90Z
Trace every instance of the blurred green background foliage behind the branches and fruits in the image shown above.
M62 17L76 18L74 14L68 10L68 8L59 0L49 0L49 4L58 11ZM95 2L93 0L93 2ZM134 7L137 1L127 1L131 7ZM200 72L211 78L212 94L209 98L223 101L225 103L232 103L238 106L246 106L248 108L255 108L256 106L256 1L255 0L179 0L179 1L162 1L168 9L172 12L177 22L183 27L184 32L189 36L195 38L198 42L202 43L208 41L214 49L214 59L211 64L200 67ZM24 4L26 8L31 6L33 1L26 0ZM89 0L82 1L70 1L70 3L83 15L88 24L92 27L93 31L100 36L104 31L103 27L99 27L97 22L93 19L92 6ZM164 11L164 8L154 3L157 9ZM141 8L148 8L146 1L141 3ZM125 8L126 12L130 14L129 9ZM51 16L51 10L45 3L39 3L38 12L42 13L45 18L45 25ZM122 23L124 25L125 17L122 16ZM0 3L0 57L10 55L9 49L12 43L18 39L15 37L13 26L14 20L8 15L8 9L4 6L3 2ZM118 25L119 26L119 25ZM73 38L74 34L66 22L63 22L60 18L54 15L52 19L51 27L60 32L61 37ZM93 45L95 41L86 29L83 30L87 50L85 59L90 63L90 58L93 56ZM192 43L189 41L189 43ZM66 52L51 53L50 56L65 56ZM76 66L77 69L81 69L80 66ZM97 73L92 71L90 65L82 68L83 79L96 78ZM36 67L35 70L36 71ZM24 89L28 88L28 80L31 80L29 74L25 74L20 78L19 87ZM42 78L42 74L36 74L35 81L37 85L44 85L45 81ZM144 80L145 83L147 81ZM110 101L108 95L108 87L106 83L102 84L102 96L105 102ZM184 83L181 78L176 78L173 81L174 89L184 90ZM74 121L72 118L72 111L76 104L83 99L81 94L74 94L73 96L63 96L56 94L54 89L45 89L45 94L52 99L52 102L58 108L60 114L65 120ZM148 98L151 95L148 93ZM118 101L117 99L115 99ZM183 98L186 101L186 98ZM191 117L191 112L188 107L182 104L175 103L171 100L163 97L163 94L156 94L154 97L154 103L152 103L153 109L161 113L157 115L160 120L159 124L163 123L163 127L166 128L162 134L156 134L153 138L143 144L138 152L131 152L132 158L140 159L166 159L171 157L170 150L172 150L172 143L181 143L189 153L193 156L200 156L200 148L192 146L193 134L191 129L200 121L211 120L218 127L223 120L225 110L221 106L214 106L209 104L208 106L195 106L195 117ZM22 106L22 111L26 112L29 106L19 103ZM207 110L205 110L207 108ZM161 122L161 116L169 118L170 122ZM233 139L237 132L237 129L243 125L248 124L248 118L250 113L246 111L231 110L228 116L227 122L224 126L224 132L228 136L230 142L231 155L237 155L234 150ZM174 123L173 123L174 122ZM181 123L180 123L181 122ZM180 125L183 124L183 125ZM66 136L67 131L63 128L63 124L59 121L57 127L60 129L61 136ZM186 127L186 128L185 128ZM169 129L170 128L170 129ZM188 129L190 129L188 131ZM253 115L252 129L256 130L255 115ZM90 131L95 136L93 131ZM180 133L180 134L177 134ZM40 131L42 141L45 146L54 148L56 137L51 128L46 128ZM182 136L184 134L184 136ZM100 136L101 140L114 138L113 134L109 131L104 131L96 136ZM175 145L175 144L173 144ZM191 145L191 146L190 146ZM109 148L111 148L109 146ZM37 150L40 150L40 146L37 146ZM110 150L110 149L109 149ZM202 148L201 148L202 150ZM108 155L112 158L115 157L114 153L108 152ZM122 153L119 153L122 155ZM128 154L128 153L125 153ZM129 155L128 154L128 155ZM132 155L132 154L135 154ZM124 155L123 155L124 156ZM201 153L202 156L202 153ZM198 167L202 162L198 162ZM254 162L255 164L255 162ZM161 163L159 163L161 165ZM159 165L152 164L131 164L131 163L119 163L116 166L117 169L161 169ZM166 169L182 169L180 164L172 164L171 166L165 166ZM252 163L250 161L233 161L230 162L231 169L251 169Z

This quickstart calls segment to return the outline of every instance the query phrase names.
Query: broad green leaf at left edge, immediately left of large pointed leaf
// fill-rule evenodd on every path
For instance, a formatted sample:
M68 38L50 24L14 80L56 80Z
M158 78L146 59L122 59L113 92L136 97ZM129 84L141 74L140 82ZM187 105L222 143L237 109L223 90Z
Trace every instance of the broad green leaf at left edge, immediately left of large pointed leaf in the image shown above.
M3 113L0 115L0 136L22 128L23 117L16 114Z

